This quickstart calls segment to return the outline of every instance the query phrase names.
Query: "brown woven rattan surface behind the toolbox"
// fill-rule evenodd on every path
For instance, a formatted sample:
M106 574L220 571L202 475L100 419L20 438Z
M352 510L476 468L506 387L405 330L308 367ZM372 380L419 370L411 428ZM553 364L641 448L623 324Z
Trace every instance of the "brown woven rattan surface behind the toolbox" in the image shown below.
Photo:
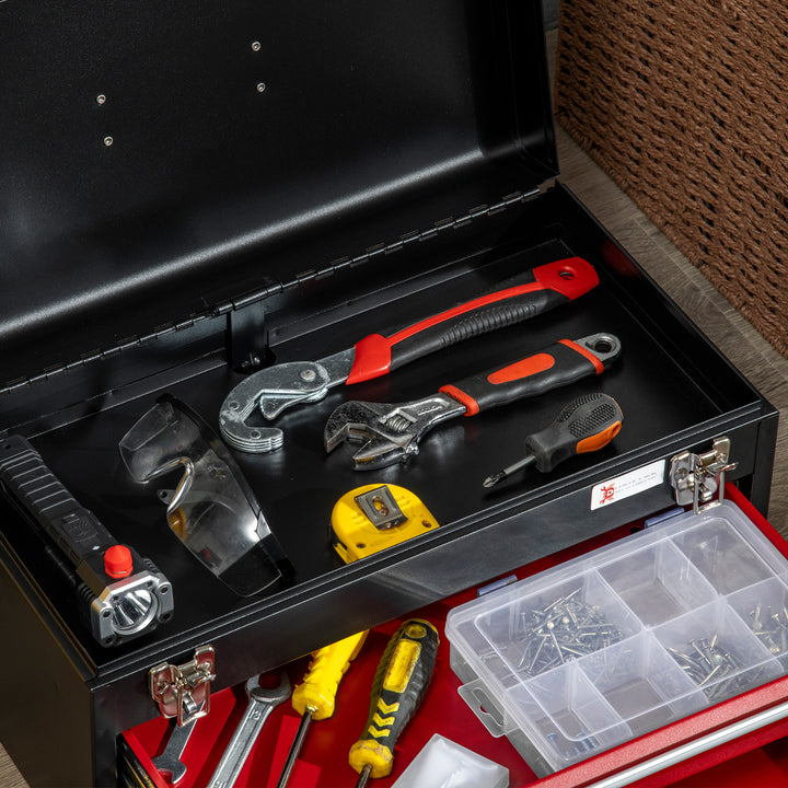
M561 0L555 109L788 358L785 0Z

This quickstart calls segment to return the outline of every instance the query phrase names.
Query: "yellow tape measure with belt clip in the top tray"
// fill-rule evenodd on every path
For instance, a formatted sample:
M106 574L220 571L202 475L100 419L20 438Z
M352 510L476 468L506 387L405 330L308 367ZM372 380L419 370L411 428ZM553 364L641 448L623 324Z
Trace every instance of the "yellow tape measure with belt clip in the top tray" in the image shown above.
M429 509L396 485L364 485L334 506L334 548L346 564L438 528Z

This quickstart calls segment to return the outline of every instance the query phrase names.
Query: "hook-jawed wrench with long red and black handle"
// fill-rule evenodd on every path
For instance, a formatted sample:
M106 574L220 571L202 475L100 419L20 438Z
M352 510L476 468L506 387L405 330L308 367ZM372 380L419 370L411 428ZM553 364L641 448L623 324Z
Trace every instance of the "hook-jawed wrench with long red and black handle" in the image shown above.
M427 317L392 336L370 334L318 361L289 361L251 374L225 397L219 427L230 445L246 452L274 451L283 442L276 427L246 424L259 407L266 419L299 403L318 402L329 389L372 380L464 339L514 325L568 303L596 287L593 266L581 257L537 266L519 281Z

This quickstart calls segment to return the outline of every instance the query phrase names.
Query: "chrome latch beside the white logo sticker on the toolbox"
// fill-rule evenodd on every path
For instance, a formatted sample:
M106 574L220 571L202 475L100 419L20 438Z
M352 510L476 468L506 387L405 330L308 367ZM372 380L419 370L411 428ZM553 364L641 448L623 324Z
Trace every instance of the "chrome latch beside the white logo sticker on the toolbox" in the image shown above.
M738 465L739 463L730 462L728 438L716 438L711 450L704 454L693 454L688 451L676 454L671 459L670 470L671 485L676 491L676 503L679 506L692 503L696 514L702 509L721 503L725 499L726 471L732 471Z

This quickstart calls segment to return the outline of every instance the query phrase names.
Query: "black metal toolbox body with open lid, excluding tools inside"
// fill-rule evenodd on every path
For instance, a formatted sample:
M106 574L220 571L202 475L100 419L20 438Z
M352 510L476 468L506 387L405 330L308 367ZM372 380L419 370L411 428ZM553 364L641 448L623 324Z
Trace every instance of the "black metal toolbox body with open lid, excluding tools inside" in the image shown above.
M32 784L112 784L117 733L158 714L151 667L210 644L215 687L236 684L670 507L667 474L594 510L591 489L715 438L765 511L775 409L555 181L537 0L1 3L0 48L0 436L30 438L175 595L171 623L103 648L0 500L0 665L36 674L7 687L0 740ZM600 276L576 302L334 389L279 417L282 449L234 452L296 568L266 592L236 596L208 572L120 462L163 392L217 428L260 366L322 358L571 256ZM345 399L418 398L598 332L623 344L609 372L437 428L407 466L358 473L324 452ZM483 488L590 391L623 408L613 443ZM344 566L332 508L372 482L415 491L440 528ZM45 763L42 737L68 762Z

